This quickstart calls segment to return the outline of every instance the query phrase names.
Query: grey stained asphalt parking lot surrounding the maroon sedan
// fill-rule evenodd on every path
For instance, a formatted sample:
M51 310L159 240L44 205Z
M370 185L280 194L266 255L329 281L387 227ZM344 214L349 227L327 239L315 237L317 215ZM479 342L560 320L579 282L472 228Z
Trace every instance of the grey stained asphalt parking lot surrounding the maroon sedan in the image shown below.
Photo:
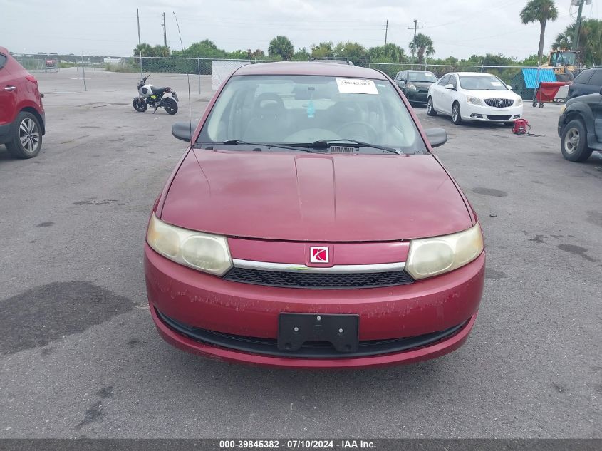
M452 125L436 154L479 214L487 280L458 351L380 370L267 370L164 343L147 310L148 214L185 150L180 112L136 113L137 74L37 75L33 160L0 146L0 437L602 437L602 157L565 161L558 105L531 132ZM209 81L190 79L194 119Z

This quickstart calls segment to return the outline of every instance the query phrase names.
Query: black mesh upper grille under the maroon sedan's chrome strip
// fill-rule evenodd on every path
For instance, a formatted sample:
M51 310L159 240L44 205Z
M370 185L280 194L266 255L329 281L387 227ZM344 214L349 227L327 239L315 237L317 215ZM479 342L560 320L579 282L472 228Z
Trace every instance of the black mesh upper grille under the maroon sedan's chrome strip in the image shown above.
M224 279L244 284L307 289L358 289L412 283L405 271L319 273L233 268Z

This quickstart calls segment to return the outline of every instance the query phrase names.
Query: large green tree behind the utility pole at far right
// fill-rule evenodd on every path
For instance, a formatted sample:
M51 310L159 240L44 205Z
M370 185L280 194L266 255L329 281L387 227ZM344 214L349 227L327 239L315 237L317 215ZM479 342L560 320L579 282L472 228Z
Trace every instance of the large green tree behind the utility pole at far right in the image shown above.
M575 24L566 27L564 32L556 36L552 44L554 50L573 48ZM602 64L602 20L583 19L579 30L579 58L586 66Z

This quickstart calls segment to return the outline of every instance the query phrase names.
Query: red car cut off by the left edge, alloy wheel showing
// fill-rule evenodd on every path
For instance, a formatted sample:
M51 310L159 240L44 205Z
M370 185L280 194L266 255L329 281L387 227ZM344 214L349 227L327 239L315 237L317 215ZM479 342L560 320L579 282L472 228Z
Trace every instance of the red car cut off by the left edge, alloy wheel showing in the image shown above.
M32 158L46 133L38 81L0 47L0 144L17 158Z

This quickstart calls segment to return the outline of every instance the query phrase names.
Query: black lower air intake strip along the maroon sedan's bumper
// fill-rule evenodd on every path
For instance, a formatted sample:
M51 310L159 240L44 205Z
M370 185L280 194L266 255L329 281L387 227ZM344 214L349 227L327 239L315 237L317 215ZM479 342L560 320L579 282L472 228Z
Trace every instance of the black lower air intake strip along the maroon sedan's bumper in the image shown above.
M157 309L155 309L155 311L163 323L172 328L172 330L192 338L192 340L198 341L199 343L220 346L222 348L234 349L246 353L301 358L353 358L408 351L410 349L429 346L438 341L451 338L468 323L468 321L465 321L457 326L445 329L445 331L426 333L419 336L360 341L358 351L351 353L338 352L335 350L332 343L326 341L308 341L297 351L280 351L278 349L278 341L274 338L247 337L230 333L208 331L207 329L180 323L180 321L165 316Z

